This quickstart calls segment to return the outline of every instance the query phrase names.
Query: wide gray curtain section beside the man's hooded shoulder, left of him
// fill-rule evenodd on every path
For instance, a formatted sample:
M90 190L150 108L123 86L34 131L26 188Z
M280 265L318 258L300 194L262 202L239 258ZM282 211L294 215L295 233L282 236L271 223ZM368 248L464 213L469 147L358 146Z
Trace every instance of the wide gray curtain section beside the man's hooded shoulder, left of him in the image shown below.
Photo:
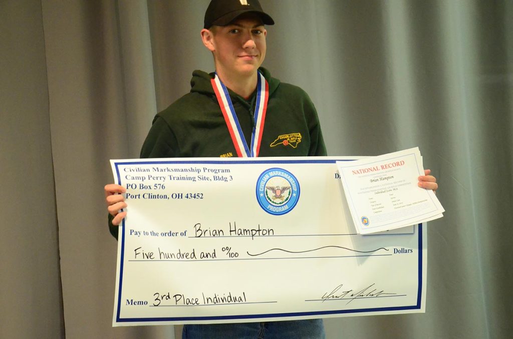
M139 156L156 113L146 3L42 4L66 336L172 338L112 328L117 243L102 190L109 159Z

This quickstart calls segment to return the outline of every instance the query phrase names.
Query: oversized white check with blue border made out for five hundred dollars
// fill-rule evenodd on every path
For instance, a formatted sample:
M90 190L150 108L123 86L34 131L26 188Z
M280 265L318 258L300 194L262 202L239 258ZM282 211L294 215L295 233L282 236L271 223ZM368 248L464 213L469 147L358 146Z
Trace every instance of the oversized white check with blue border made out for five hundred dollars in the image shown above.
M111 160L113 326L424 312L423 225L357 235L336 161Z

